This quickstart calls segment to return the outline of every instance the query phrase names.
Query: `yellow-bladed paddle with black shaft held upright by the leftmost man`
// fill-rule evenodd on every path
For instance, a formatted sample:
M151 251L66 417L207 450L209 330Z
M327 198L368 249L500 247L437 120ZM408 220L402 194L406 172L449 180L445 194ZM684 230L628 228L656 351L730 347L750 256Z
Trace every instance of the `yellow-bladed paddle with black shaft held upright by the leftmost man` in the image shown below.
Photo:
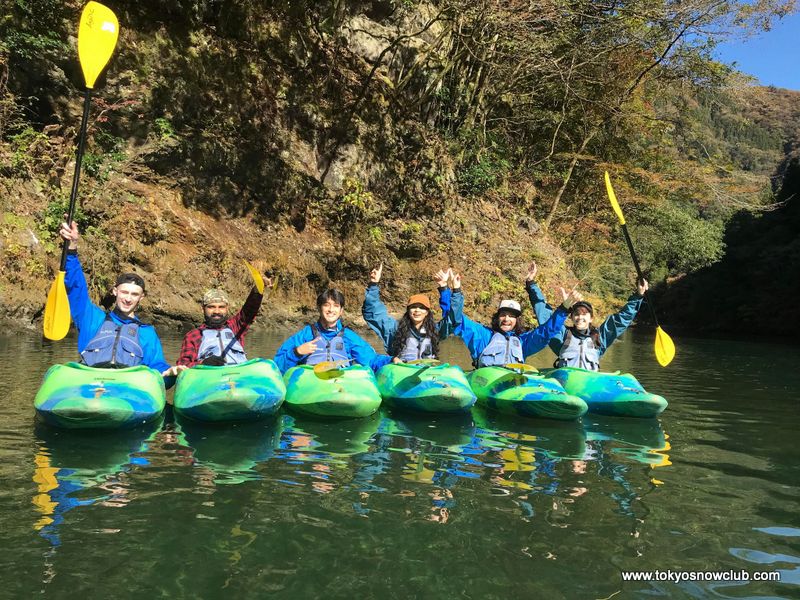
M114 47L117 45L119 23L111 9L97 2L89 2L81 13L81 22L78 26L78 60L83 70L83 79L86 82L86 92L83 98L83 117L78 133L78 149L75 153L75 173L72 176L72 192L69 196L69 210L67 223L72 224L75 216L75 201L78 197L78 180L81 173L83 149L86 143L86 128L89 123L89 107L91 106L91 90L98 75L105 68ZM67 288L64 285L66 275L64 269L67 263L67 249L69 242L64 240L61 249L61 263L58 275L50 291L47 293L47 302L44 307L44 336L51 340L61 340L69 332L70 313Z

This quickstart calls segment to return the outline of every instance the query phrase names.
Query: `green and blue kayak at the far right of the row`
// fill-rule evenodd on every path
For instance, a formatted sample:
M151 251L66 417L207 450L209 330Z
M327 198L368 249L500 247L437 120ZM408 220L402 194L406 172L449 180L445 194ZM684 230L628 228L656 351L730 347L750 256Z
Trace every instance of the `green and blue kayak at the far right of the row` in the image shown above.
M655 417L667 408L667 401L650 394L630 373L599 373L574 367L548 369L570 394L586 401L589 412L615 417Z

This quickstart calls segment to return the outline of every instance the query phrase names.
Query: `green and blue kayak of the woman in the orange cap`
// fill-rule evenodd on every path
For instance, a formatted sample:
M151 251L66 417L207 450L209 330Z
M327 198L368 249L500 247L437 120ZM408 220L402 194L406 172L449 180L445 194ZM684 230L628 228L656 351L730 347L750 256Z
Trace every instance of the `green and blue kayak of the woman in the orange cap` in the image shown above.
M475 404L461 367L447 363L389 364L378 371L378 391L392 408L465 412Z

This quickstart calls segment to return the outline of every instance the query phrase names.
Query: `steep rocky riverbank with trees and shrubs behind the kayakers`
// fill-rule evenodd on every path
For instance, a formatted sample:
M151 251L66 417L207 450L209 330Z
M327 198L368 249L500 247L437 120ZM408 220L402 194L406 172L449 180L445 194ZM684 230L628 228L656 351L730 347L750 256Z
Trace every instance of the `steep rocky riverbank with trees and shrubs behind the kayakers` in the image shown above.
M196 318L210 285L243 298L242 257L279 277L273 322L329 282L359 297L380 261L390 301L453 265L485 311L521 295L535 259L546 290L580 281L610 307L633 272L608 170L665 322L688 306L704 322L718 288L697 278L732 253L751 268L745 232L796 206L780 189L800 94L711 54L791 0L108 5L122 30L93 104L81 256L97 294L142 272L157 319ZM0 295L17 322L36 319L57 268L80 8L14 0L0 22ZM756 237L758 269L797 265ZM670 294L678 281L702 294Z

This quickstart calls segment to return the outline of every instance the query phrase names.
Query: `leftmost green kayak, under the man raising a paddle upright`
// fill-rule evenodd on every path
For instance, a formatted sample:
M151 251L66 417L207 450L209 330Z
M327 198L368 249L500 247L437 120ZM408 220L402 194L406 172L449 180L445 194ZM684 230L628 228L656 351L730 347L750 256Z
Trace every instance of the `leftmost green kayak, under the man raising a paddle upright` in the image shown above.
M166 405L164 378L150 367L96 369L54 365L33 406L45 423L72 429L113 429L149 423Z

